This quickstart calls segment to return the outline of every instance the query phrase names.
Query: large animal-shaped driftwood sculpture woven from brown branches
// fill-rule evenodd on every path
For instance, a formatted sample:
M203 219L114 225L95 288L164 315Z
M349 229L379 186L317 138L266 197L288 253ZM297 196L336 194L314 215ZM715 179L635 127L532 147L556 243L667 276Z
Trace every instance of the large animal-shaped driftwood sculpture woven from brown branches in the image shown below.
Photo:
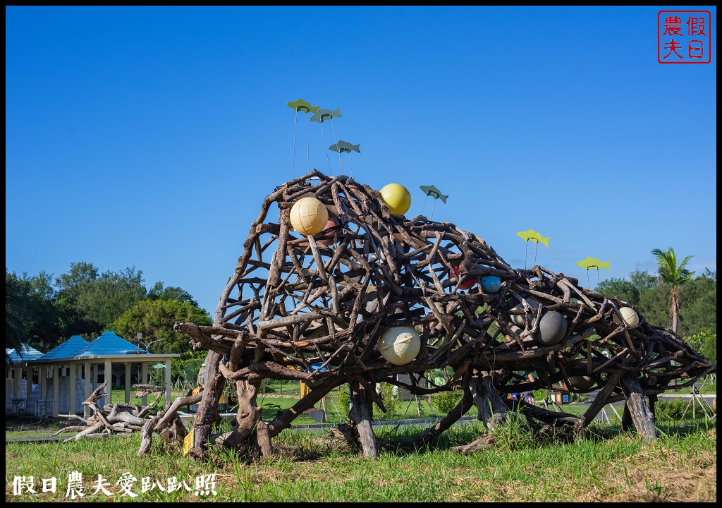
M326 208L331 222L323 231L300 234L292 227L292 207L303 197ZM380 337L397 327L417 330L418 353L391 363ZM675 379L676 388L691 386L716 372L715 363L626 303L539 266L515 270L479 236L423 216L391 215L379 191L318 171L264 199L214 324L176 323L175 330L209 350L191 449L196 458L209 446L227 382L238 393L238 416L215 442L251 458L267 455L296 416L348 383L353 406L344 432L373 458L378 382L415 395L464 389L456 408L422 432L419 444L474 405L479 419L493 425L512 408L505 394L558 384L600 391L583 416L521 403L530 423L573 437L604 405L625 400L623 426L653 439L656 395ZM432 369L453 374L442 384L419 382ZM397 374L412 382L399 382ZM256 395L265 378L302 380L310 394L263 421ZM170 421L168 415L157 420L144 442L149 446L152 431Z

